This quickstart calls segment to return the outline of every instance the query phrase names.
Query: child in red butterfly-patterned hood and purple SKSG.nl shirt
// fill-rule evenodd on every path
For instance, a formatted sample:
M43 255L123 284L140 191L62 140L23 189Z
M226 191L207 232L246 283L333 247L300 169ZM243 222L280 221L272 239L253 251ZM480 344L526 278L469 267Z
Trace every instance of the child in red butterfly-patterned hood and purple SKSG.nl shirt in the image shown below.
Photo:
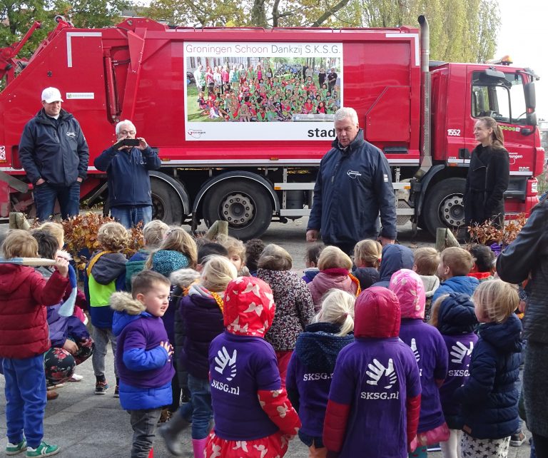
M298 432L274 349L264 340L275 307L259 278L240 277L226 287L225 332L209 347L215 428L204 457L281 458Z

